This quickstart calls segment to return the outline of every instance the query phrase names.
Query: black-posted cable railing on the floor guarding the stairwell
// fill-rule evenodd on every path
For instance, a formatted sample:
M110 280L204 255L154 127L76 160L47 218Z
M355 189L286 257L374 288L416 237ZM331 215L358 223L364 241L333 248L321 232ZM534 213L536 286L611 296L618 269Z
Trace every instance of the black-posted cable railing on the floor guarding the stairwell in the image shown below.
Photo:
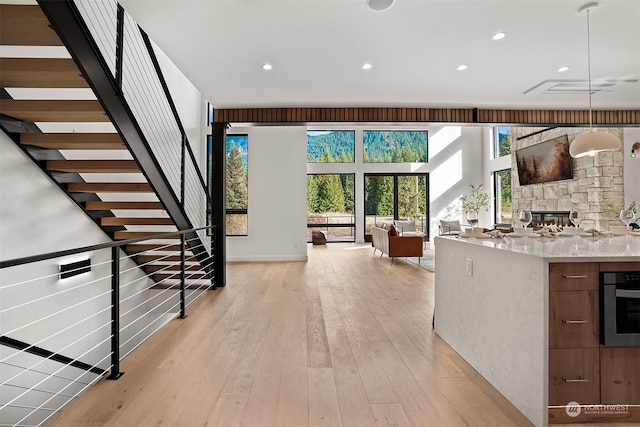
M39 426L215 289L204 229L0 261L0 425ZM176 244L176 236L180 243ZM74 265L65 269L62 266ZM77 273L77 274L76 274Z

